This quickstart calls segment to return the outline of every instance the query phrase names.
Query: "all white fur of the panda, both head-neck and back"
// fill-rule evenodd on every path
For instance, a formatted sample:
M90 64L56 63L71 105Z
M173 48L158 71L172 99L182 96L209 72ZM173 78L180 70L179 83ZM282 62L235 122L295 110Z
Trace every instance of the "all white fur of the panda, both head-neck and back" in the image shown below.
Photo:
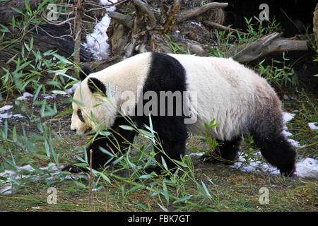
M114 64L102 71L90 73L88 78L98 78L107 88L110 85L112 101L114 104L105 102L99 97L90 94L86 78L78 87L74 99L81 102L82 95L84 114L90 116L93 111L96 121L105 121L102 125L109 128L114 123L117 107L124 102L122 93L131 91L138 98L141 88L151 65L151 53L138 54L130 57L120 64ZM187 73L187 89L197 93L197 109L195 124L189 124L188 129L193 133L201 133L204 122L216 119L218 126L210 130L211 136L220 140L230 140L245 131L245 121L255 114L261 114L264 105L269 98L275 102L278 108L280 100L271 86L264 78L258 76L251 69L232 59L217 57L196 57L193 55L168 54L177 59ZM138 99L137 99L138 100ZM136 105L136 99L130 98L130 105ZM101 104L99 107L95 105ZM78 109L73 102L73 109ZM259 112L257 112L259 111ZM84 133L87 129L94 128L95 124L86 117L88 125L76 120L76 111L73 111L71 129L78 133Z

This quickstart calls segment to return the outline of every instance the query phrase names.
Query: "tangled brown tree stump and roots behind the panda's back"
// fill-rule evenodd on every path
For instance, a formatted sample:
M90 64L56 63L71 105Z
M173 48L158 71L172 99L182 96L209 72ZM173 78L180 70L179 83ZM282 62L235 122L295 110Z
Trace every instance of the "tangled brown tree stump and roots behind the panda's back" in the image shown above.
M117 6L116 12L108 13L112 18L108 30L111 34L110 55L124 59L141 52L155 51L208 56L211 30L201 21L211 20L218 14L223 20L217 21L222 23L224 13L221 8L228 4L212 2L200 5L199 0L188 4L182 4L182 0L167 0L165 3L160 0L131 0Z

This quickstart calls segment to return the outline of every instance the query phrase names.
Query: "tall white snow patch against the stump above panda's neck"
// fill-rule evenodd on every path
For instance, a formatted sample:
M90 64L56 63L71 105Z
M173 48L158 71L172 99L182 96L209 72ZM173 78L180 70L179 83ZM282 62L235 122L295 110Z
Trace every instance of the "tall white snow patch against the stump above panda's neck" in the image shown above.
M117 3L118 0L112 0L112 2L107 0L101 0L100 4L102 6L108 6L110 4ZM107 12L115 11L115 7L111 6L110 8L106 8L106 14L100 20L99 23L95 25L93 33L90 35L86 35L86 43L83 45L90 49L90 52L93 53L94 57L98 60L107 59L108 48L110 45L107 43L108 36L107 36L107 28L110 26L110 17L107 15Z

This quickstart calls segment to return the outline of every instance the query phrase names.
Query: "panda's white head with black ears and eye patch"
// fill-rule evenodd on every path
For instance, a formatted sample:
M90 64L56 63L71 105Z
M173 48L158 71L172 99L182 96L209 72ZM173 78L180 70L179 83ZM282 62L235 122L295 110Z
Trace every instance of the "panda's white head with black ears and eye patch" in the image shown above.
M96 125L108 128L114 123L117 108L110 102L105 102L100 96L105 96L106 86L95 78L92 69L83 67L80 73L81 83L73 96L73 114L71 130L79 134L87 133L92 129L98 130ZM86 77L86 74L90 76ZM96 75L98 76L98 75ZM102 122L102 123L100 123Z

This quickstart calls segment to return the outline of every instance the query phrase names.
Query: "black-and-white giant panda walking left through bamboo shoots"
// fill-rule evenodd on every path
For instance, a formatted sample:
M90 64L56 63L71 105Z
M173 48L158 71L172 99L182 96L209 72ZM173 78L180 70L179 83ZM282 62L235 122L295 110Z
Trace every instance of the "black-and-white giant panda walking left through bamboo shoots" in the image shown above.
M138 128L145 129L150 114L153 130L169 156L154 146L155 159L162 162L163 157L170 169L175 167L170 159L181 160L187 134L192 132L216 138L220 145L218 157L213 160L234 162L242 135L253 136L261 154L281 174L290 176L295 171L295 150L282 134L281 101L264 78L232 59L146 52L102 71L93 73L84 67L83 72L73 95L71 130L79 134L99 128L114 132L112 137L100 133L86 148L89 162L89 151L93 150L93 169L102 167L109 158L100 147L124 152L134 141L136 133L121 125L129 124L131 119ZM167 106L160 104L167 99L160 96L163 92L194 95L172 98L173 105ZM158 95L157 106L147 106L151 101L149 93ZM103 100L102 95L111 101ZM182 105L178 105L180 100ZM124 105L126 111L122 110ZM148 107L150 112L143 112L142 107ZM160 114L151 112L156 108ZM212 119L218 126L206 129L204 124ZM64 170L82 169L68 165ZM151 170L159 172L160 167Z

